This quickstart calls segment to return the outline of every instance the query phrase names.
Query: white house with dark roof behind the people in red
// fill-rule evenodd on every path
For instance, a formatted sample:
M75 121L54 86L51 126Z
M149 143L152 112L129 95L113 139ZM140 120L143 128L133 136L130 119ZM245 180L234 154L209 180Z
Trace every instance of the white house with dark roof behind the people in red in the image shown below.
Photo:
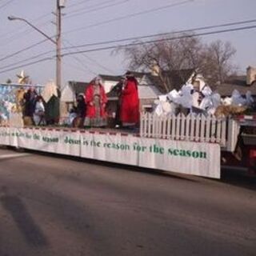
M163 82L168 84L169 90L180 90L185 83L193 83L194 86L202 90L205 86L204 79L195 70L171 70L163 71L161 77L158 72L133 72L138 80L138 97L140 99L140 110L152 110L154 101L159 95L166 94ZM117 106L118 95L113 90L114 86L121 80L122 75L99 74L102 78L102 86L108 97L108 112L112 114ZM78 94L83 94L88 86L88 82L70 81L62 90L62 110L66 113L72 108Z

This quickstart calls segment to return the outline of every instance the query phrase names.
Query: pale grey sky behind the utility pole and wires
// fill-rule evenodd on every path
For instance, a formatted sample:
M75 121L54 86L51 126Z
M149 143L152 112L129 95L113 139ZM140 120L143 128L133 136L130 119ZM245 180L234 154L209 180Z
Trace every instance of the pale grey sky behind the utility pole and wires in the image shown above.
M0 59L5 58L0 61L0 82L6 82L7 78L16 82L16 74L21 70L25 70L34 83L46 83L54 79L54 59L1 72L22 65L17 62L47 51L52 52L30 59L28 62L53 56L55 50L54 44L46 41L30 50L6 58L45 39L25 22L10 22L7 17L15 15L26 18L40 30L53 36L55 26L52 23L54 14L51 12L55 8L56 0L0 0ZM138 14L147 10L155 11ZM66 0L66 8L63 10L65 15L62 17L62 46L250 20L255 18L255 10L255 0ZM110 22L111 19L116 20ZM256 25L256 22L249 25ZM239 66L240 73L245 73L246 66L256 66L256 29L207 35L202 39L205 42L216 39L230 41L237 50L234 62ZM82 50L95 47L98 46L90 46ZM95 74L123 74L126 66L124 56L113 54L113 50L66 56L63 58L62 79L64 82L68 80L86 82Z

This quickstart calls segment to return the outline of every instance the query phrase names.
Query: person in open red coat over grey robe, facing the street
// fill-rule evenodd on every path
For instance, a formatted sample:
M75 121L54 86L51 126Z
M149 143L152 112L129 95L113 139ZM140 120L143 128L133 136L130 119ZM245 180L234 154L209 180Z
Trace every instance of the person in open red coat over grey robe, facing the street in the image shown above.
M106 93L101 78L94 78L85 92L86 119L85 126L106 126Z

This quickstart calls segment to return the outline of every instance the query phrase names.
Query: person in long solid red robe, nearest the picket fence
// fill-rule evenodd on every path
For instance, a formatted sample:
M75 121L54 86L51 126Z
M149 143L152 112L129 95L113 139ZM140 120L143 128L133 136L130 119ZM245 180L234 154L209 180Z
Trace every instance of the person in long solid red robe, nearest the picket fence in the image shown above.
M138 81L130 72L126 73L126 81L121 94L120 119L122 126L136 126L139 122Z

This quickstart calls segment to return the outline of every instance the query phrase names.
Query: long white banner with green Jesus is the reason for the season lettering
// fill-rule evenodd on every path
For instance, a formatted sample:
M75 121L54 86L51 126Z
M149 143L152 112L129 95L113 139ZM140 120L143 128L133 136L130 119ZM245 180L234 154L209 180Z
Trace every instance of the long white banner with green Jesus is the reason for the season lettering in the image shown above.
M71 130L0 127L0 144L220 178L220 146Z

